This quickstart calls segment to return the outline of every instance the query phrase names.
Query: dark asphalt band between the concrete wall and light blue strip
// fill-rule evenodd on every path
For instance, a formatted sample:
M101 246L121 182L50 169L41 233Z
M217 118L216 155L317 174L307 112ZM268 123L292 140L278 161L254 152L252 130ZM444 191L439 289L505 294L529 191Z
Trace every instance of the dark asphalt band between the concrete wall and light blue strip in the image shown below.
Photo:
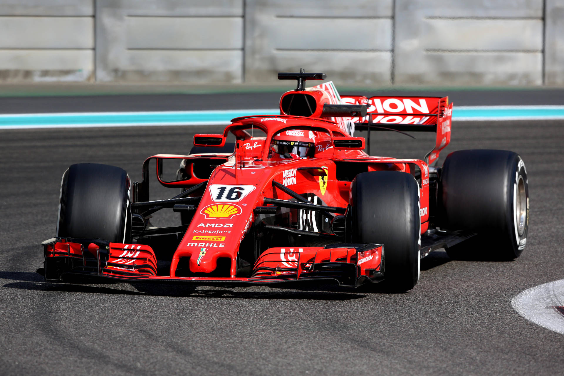
M288 89L293 89L289 82ZM138 94L0 98L0 113L184 111L276 108L280 92L228 94ZM348 95L447 96L459 106L562 105L564 89L527 90L365 90L340 91Z

